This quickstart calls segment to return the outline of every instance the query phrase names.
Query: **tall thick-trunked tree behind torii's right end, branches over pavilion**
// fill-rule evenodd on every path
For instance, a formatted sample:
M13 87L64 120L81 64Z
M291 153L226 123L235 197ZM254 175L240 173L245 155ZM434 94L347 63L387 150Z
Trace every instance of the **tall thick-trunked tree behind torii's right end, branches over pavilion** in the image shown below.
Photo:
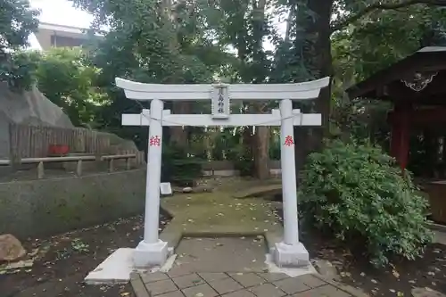
M397 56L407 55L408 49L413 51L419 34L425 24L431 22L434 15L442 14L434 7L445 5L444 1L436 0L277 0L277 6L289 13L287 18L286 36L277 45L277 74L288 81L303 81L334 75L332 57L332 39L336 36L353 38L351 48L344 54L351 61L356 60L353 67L367 67L376 71L378 61L385 63L394 61ZM437 17L435 16L434 19ZM410 20L413 29L406 31L406 21ZM398 20L398 21L395 21ZM405 30L406 32L403 32ZM387 44L389 38L401 38L401 42ZM372 42L373 39L373 42ZM402 41L405 39L406 41ZM406 43L406 45L404 45ZM407 46L407 45L414 46ZM401 50L401 45L405 50ZM383 56L383 47L396 46L395 51L388 51ZM362 57L351 53L362 53ZM367 56L367 58L366 58ZM339 58L339 57L337 57ZM366 58L361 60L361 58ZM361 62L359 62L361 61ZM362 63L364 62L364 63ZM366 64L366 62L369 62ZM370 71L361 71L358 78L369 75ZM350 73L356 73L354 70ZM351 78L351 76L350 76ZM354 80L349 79L350 83ZM345 87L345 86L343 86ZM319 96L315 106L310 107L323 115L323 128L312 129L311 137L301 128L295 128L294 136L297 143L311 144L309 150L317 149L322 143L322 137L330 131L330 113L332 110L331 87L325 89ZM303 145L296 145L296 166L301 168L305 154Z

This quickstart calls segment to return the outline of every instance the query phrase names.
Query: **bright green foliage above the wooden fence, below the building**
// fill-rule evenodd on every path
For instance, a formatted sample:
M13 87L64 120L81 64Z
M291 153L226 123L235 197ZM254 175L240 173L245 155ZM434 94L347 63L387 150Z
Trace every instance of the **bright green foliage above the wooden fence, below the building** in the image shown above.
M61 107L75 126L90 124L98 106L107 103L106 96L95 87L100 71L88 64L80 48L17 52L13 58L28 65L23 71L29 71L37 88Z

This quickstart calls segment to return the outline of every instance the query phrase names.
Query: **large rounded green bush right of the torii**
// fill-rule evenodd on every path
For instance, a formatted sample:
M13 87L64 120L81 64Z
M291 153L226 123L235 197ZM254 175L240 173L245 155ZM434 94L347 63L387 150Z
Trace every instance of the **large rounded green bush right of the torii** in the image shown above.
M369 144L326 143L311 153L299 188L301 214L323 232L356 243L376 266L413 260L432 234L427 202L394 159Z

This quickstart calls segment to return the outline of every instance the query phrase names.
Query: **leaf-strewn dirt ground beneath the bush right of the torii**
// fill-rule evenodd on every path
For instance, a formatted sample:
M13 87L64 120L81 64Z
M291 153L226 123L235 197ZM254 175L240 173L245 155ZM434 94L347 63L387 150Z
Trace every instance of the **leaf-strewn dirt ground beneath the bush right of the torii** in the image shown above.
M446 294L446 246L427 246L423 258L393 261L388 268L373 268L368 260L348 249L324 240L314 233L302 238L310 259L329 260L346 285L357 287L372 296L412 296L414 287L428 287Z

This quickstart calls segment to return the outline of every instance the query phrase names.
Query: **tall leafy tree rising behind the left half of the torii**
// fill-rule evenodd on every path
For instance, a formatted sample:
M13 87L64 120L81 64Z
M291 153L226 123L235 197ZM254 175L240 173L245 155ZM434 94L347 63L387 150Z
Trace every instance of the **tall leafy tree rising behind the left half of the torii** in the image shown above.
M103 119L107 119L104 125L108 128L120 127L123 111L137 112L145 104L126 99L116 87L112 87L114 78L132 78L148 83L211 82L214 73L228 57L221 54L219 45L213 44L203 31L202 6L193 2L73 2L95 16L95 28L108 26L110 29L93 53L95 65L103 70L100 86L111 97L111 104L103 109ZM172 108L169 103L166 105ZM174 133L174 139L183 142L186 136L180 132ZM137 143L145 138L141 129L120 128L120 133L122 136L136 136Z

